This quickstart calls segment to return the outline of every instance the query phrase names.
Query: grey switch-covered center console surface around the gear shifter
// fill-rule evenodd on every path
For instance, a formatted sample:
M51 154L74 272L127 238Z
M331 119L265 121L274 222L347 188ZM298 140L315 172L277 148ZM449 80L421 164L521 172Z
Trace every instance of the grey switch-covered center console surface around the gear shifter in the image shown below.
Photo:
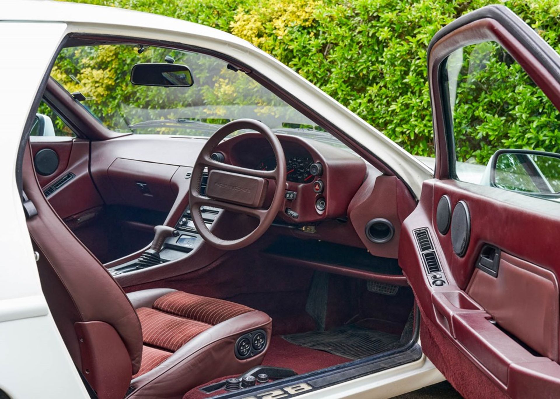
M214 219L218 216L218 213L220 213L220 209L203 206L200 210L202 212L204 223L209 229L212 226ZM161 245L161 249L158 251L160 262L155 264L161 264L184 257L185 254L188 254L190 251L197 248L197 246L199 246L203 241L194 226L189 207L186 208L183 215L179 218L177 224L175 225L175 230L176 234L172 234L167 237ZM129 273L134 272L135 270L151 267L154 264L150 265L142 262L142 258L146 257L146 253L148 251L149 250L144 251L142 256L138 259L134 259L108 269L109 273L116 276L121 273Z

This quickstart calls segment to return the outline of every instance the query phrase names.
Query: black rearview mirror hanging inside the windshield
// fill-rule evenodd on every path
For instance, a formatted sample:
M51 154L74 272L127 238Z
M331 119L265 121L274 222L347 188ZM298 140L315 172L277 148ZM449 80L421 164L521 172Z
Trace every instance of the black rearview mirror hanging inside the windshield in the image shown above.
M136 64L130 71L130 82L140 86L191 87L193 86L193 75L186 65Z

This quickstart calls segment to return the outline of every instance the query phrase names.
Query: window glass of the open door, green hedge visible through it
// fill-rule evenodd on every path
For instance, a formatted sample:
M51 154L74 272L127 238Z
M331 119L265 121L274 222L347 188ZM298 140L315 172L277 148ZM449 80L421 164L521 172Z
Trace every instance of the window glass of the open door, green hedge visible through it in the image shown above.
M503 149L560 152L560 113L521 65L502 46L487 41L454 51L447 58L444 73L456 177L470 183L533 192L534 184L540 184L531 175L536 169L523 165L537 166L547 159L554 166L544 167L550 175L544 173L542 177L550 178L547 187L557 187L554 168L558 162L552 158L519 153L502 154L501 159L494 156ZM492 167L497 168L496 173L491 173ZM498 184L496 177L503 184Z

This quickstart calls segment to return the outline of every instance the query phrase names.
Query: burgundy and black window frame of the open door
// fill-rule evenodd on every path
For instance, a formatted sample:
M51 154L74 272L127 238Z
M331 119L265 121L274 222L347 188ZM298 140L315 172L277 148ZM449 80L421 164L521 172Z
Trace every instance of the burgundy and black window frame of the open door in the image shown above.
M533 30L520 28L496 8L484 8L469 20L447 25L428 46L428 79L432 89L432 118L436 149L436 179L457 179L455 139L446 65L448 56L465 46L485 41L501 45L560 111L560 59ZM476 36L473 35L476 32ZM551 53L552 52L552 53Z

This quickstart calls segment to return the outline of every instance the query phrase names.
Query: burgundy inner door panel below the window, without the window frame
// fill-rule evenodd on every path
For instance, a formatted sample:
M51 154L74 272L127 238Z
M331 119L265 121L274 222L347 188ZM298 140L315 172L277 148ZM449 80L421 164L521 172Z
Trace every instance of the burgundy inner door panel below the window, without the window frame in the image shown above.
M454 253L451 232L442 235L437 229L437 203L444 195L450 198L452 209L459 201L469 208L471 231L464 257ZM433 241L446 281L442 287L433 286L426 273L414 236L418 229L427 229ZM522 397L516 390L528 376L534 392L560 395L556 363L560 265L550 250L560 232L557 204L497 188L434 179L424 183L419 205L402 231L399 263L416 294L424 328L430 324L440 330L510 396ZM475 268L486 244L502 250L497 277ZM426 346L424 353L438 359L433 349ZM438 360L435 364L442 369L453 367ZM475 374L465 377L480 383Z

